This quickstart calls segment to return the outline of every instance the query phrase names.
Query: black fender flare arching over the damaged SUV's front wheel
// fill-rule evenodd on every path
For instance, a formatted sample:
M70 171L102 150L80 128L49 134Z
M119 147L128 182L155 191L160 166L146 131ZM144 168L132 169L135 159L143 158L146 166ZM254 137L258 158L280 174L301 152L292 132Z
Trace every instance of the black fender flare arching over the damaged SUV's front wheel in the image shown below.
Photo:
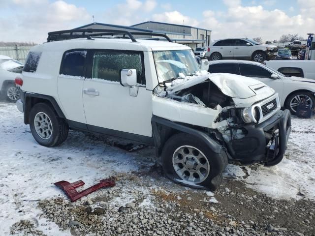
M215 153L222 153L223 147L218 144L216 141L214 141L212 138L210 138L206 133L190 128L188 126L175 123L173 121L170 121L168 119L160 118L157 116L153 116L151 119L152 123L152 129L153 129L153 137L154 137L154 142L156 148L159 148L160 146L163 146L163 137L161 136L160 129L158 128L157 124L160 124L162 126L166 126L172 129L175 129L177 131L183 132L183 133L188 133L193 136L196 136L200 138L204 143L209 146Z

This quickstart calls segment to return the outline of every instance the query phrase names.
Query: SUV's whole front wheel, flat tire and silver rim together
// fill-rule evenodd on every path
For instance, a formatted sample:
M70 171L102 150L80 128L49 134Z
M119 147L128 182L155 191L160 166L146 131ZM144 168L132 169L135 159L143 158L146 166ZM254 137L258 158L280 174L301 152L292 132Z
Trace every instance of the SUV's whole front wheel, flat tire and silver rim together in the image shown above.
M216 189L226 165L225 155L215 153L203 141L185 133L169 138L162 151L166 176L190 187Z

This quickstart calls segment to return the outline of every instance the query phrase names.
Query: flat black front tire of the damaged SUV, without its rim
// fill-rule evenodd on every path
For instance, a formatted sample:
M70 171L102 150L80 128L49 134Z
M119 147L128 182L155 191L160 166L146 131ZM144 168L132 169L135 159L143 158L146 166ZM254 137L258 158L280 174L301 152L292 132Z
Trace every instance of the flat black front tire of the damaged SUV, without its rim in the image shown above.
M191 146L199 149L207 158L210 164L210 173L207 178L200 183L183 181L173 167L173 155L182 146ZM179 133L171 136L165 143L162 150L162 167L165 175L171 180L193 188L203 188L215 190L222 182L222 172L227 165L227 155L225 153L215 153L210 147L204 145L203 141L195 136Z

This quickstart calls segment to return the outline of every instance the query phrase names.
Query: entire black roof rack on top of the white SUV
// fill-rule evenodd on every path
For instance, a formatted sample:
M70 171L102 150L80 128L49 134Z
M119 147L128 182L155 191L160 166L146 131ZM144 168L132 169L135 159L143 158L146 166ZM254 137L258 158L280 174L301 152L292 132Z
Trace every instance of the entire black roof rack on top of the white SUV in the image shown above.
M69 29L54 31L48 33L47 42L52 41L61 41L65 39L74 39L74 38L88 38L93 40L94 36L114 36L114 35L123 35L119 38L130 38L132 42L137 42L133 35L150 35L164 37L169 42L173 42L168 36L162 33L150 33L150 32L129 32L126 30L116 30L116 29Z

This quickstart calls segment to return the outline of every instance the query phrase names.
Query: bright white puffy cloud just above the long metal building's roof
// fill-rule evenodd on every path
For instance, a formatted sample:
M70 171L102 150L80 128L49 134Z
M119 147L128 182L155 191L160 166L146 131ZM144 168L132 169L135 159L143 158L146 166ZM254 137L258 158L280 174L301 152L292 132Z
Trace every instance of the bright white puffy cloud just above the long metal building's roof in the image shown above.
M166 23L171 23L171 24L183 25L184 23L185 25L189 25L189 26L198 25L198 21L196 19L193 19L189 16L185 16L178 11L167 11L161 14L154 14L152 16L152 19L154 21L166 22Z

